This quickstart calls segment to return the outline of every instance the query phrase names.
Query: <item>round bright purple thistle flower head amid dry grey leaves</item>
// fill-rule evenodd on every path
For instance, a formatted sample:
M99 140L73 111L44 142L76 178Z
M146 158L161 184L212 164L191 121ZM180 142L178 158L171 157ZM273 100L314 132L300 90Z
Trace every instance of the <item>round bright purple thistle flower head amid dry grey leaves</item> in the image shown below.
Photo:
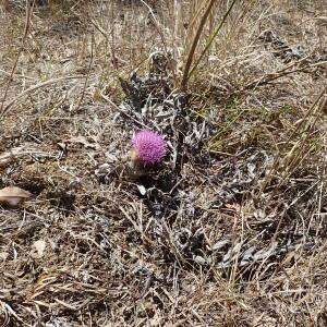
M166 155L166 142L162 136L152 131L136 132L132 138L134 159L145 165L160 161Z

